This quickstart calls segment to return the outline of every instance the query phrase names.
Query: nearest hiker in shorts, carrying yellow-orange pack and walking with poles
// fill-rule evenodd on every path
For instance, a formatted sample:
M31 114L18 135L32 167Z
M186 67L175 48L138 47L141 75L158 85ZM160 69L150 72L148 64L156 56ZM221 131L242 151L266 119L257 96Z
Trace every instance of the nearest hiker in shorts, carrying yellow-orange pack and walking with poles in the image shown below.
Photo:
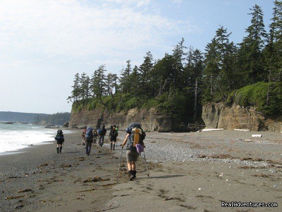
M126 159L127 159L127 168L128 168L128 174L130 177L130 180L134 180L136 178L136 164L135 162L138 159L140 146L144 148L144 142L143 140L146 137L146 133L141 128L140 124L132 123L128 128L126 128L126 137L122 144L122 148L127 144L127 151L126 151ZM138 151L137 151L138 147Z

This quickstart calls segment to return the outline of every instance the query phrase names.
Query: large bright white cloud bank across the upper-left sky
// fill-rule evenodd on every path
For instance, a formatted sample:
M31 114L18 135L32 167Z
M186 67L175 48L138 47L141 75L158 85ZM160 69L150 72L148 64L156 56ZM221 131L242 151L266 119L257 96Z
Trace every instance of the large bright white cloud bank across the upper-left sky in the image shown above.
M0 1L0 51L47 57L118 56L197 30L188 21L143 11L150 0L103 2Z

